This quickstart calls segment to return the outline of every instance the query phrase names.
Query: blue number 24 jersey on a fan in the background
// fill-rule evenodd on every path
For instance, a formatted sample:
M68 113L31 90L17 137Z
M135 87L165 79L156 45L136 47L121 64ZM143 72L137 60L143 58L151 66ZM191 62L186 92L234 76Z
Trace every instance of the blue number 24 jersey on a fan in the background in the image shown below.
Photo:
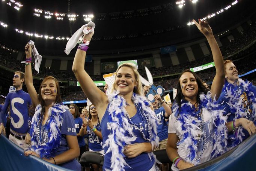
M101 132L100 126L96 129L97 129L97 131ZM87 134L89 137L89 149L96 151L96 152L103 150L102 139L99 138L98 136L95 136L95 138L93 138L92 134L89 133L90 132L89 130L90 130L90 127L87 126Z

